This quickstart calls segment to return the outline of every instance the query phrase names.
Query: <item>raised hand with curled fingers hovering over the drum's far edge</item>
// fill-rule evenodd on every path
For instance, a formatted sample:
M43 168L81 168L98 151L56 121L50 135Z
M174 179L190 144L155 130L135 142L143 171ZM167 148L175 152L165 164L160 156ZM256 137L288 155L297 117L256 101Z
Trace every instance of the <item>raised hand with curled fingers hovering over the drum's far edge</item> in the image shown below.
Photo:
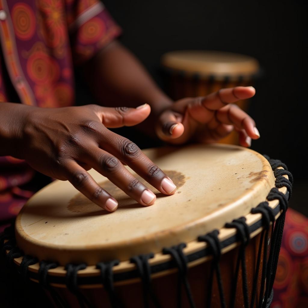
M255 92L253 87L234 87L205 97L180 99L161 113L156 133L173 144L192 138L211 143L235 129L240 144L249 147L251 139L258 139L260 134L253 119L234 103L252 97Z

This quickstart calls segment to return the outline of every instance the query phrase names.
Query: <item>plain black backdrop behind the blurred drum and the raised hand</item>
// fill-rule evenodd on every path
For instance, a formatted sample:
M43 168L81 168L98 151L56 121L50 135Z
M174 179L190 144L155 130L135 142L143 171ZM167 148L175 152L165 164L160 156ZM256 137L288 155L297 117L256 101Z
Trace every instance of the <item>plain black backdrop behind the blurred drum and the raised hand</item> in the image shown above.
M285 162L294 174L291 206L308 215L307 4L305 1L104 0L123 28L120 41L164 87L160 57L206 49L255 57L265 75L249 114L261 139L252 148ZM306 200L305 200L306 199Z

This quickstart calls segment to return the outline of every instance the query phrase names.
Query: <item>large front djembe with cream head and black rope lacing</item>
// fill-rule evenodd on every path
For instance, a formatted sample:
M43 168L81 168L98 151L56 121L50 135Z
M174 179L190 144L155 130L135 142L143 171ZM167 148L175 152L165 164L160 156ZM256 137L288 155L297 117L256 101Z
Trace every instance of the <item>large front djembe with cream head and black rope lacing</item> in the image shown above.
M144 152L174 195L152 188L156 203L143 207L91 170L119 201L107 213L55 181L2 236L11 270L59 307L267 307L291 193L286 166L230 145Z

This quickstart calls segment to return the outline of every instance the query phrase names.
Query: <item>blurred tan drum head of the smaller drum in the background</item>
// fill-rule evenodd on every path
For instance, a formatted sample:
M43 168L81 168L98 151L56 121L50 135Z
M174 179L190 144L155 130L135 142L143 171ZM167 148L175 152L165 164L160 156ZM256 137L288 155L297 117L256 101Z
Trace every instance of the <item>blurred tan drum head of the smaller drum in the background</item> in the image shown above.
M183 50L168 52L162 57L162 64L169 69L187 74L215 76L215 79L242 75L249 77L259 70L256 59L247 55L222 51Z

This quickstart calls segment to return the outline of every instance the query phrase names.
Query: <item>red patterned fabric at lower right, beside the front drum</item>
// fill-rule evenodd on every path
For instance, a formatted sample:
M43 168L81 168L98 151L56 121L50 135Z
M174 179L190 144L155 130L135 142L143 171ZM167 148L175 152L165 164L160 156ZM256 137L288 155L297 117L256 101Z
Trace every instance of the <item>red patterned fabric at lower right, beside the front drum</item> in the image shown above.
M308 219L288 209L271 308L308 307Z

